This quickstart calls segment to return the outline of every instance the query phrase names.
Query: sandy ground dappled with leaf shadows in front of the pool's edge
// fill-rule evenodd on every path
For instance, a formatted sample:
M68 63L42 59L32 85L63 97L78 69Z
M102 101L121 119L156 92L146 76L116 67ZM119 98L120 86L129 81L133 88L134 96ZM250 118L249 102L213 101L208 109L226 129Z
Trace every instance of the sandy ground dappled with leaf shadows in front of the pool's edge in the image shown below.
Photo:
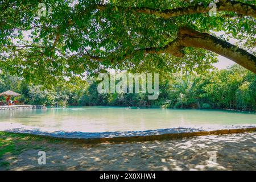
M1 162L8 162L10 170L256 170L255 132L153 142L32 144L36 149L6 154ZM38 164L40 150L46 151L46 165ZM217 152L216 163L209 161L211 151Z

